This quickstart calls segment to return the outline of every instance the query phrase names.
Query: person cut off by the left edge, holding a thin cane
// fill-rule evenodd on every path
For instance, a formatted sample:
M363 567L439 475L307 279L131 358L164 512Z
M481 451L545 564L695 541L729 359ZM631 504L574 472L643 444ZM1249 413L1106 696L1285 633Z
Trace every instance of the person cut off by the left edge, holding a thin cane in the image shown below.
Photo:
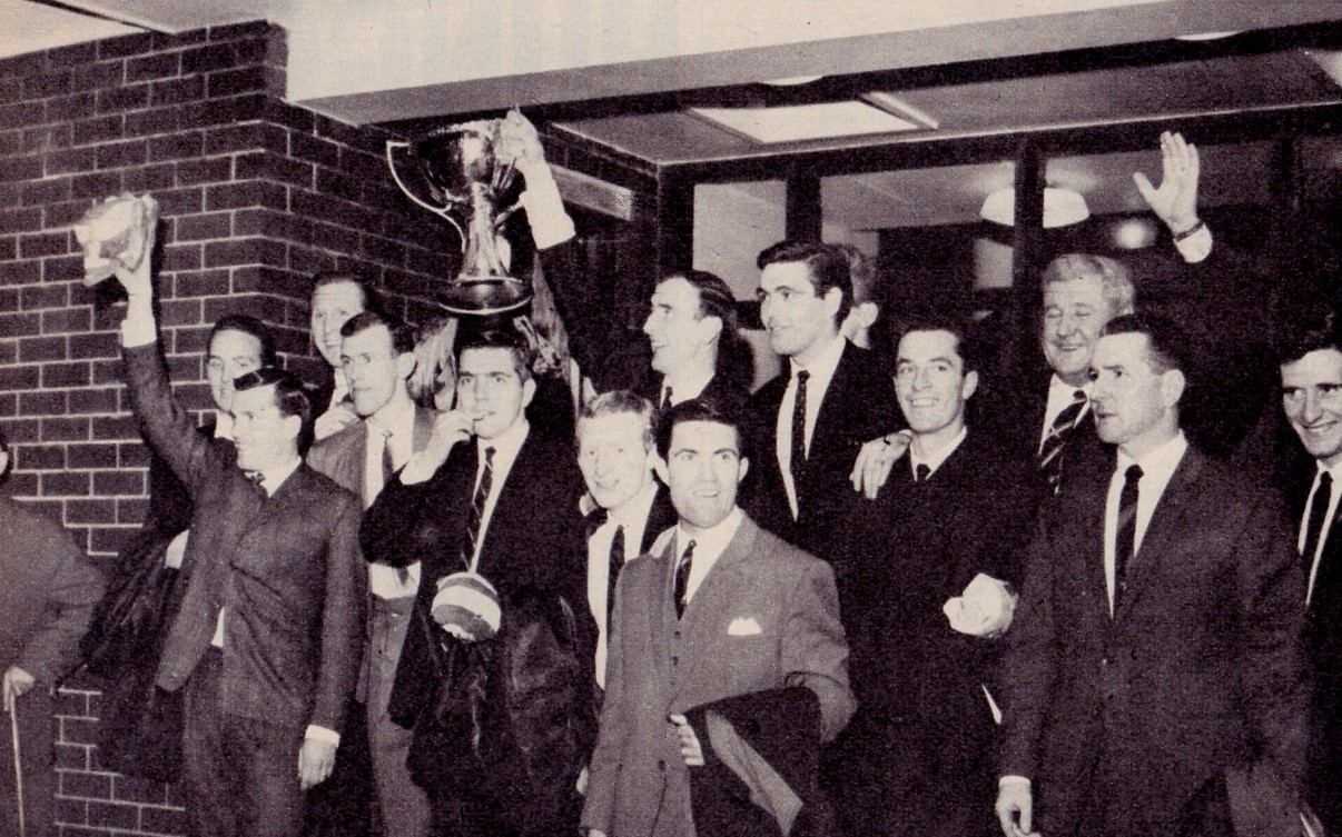
M12 465L0 431L0 484ZM0 671L8 727L0 736L0 833L48 837L56 833L55 687L79 661L79 637L102 596L102 575L70 533L7 492L0 492Z

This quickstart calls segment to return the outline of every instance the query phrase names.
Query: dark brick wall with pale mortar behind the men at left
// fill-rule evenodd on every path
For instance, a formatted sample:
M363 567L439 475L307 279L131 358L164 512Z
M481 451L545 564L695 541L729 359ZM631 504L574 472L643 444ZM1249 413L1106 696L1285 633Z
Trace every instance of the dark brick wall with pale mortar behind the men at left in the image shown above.
M122 306L82 287L70 231L93 200L150 192L164 221L162 345L178 396L209 406L209 323L254 314L285 362L319 374L307 291L357 268L423 319L455 233L413 207L385 135L286 105L283 32L267 24L129 35L0 62L0 427L8 490L114 554L144 516L146 452L121 385ZM172 790L99 769L97 684L62 693L63 834L180 834Z

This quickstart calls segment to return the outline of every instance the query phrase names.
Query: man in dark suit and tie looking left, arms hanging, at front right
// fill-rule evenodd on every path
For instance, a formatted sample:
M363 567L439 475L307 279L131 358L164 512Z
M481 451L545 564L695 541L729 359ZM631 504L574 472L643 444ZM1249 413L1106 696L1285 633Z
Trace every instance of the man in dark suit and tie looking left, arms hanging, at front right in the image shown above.
M1188 445L1188 354L1150 314L1095 346L1091 402L1118 464L1047 504L1031 549L1000 681L1007 837L1227 834L1245 813L1235 777L1278 786L1260 810L1299 789L1299 561L1279 504Z

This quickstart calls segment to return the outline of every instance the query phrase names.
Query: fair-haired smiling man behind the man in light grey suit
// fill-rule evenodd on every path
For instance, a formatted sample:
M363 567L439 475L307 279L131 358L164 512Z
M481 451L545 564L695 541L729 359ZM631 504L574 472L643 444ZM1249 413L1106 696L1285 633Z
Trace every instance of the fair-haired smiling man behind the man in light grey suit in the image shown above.
M595 671L601 688L620 571L676 520L654 475L652 414L651 401L616 389L589 401L578 416L578 468L588 487L584 499L595 506L586 519L586 593L597 626Z

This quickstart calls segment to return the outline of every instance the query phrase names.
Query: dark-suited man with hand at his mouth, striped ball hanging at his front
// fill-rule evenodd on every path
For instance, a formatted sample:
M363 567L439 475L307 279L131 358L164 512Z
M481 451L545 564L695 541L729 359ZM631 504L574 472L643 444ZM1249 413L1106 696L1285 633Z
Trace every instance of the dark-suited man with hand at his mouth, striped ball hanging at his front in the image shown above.
M429 795L435 828L452 834L557 834L577 825L576 781L595 711L595 628L584 606L577 508L582 479L572 448L527 423L534 392L521 335L466 337L458 353L458 408L437 418L428 445L388 483L364 520L365 549L396 567L421 562L417 613L389 711L415 727L411 774ZM474 574L472 585L493 590L471 601L491 600L497 636L448 633L431 616L463 571ZM558 632L562 659L537 651L533 663L522 661L526 649L515 645L510 626L525 617L526 602L564 610L574 622L576 636ZM527 677L553 675L554 695L510 699L507 689L526 684L505 665L522 665ZM472 685L479 683L490 688ZM467 704L466 718L443 714ZM526 723L546 707L556 714L549 731L565 736L553 751L529 738L549 731Z

